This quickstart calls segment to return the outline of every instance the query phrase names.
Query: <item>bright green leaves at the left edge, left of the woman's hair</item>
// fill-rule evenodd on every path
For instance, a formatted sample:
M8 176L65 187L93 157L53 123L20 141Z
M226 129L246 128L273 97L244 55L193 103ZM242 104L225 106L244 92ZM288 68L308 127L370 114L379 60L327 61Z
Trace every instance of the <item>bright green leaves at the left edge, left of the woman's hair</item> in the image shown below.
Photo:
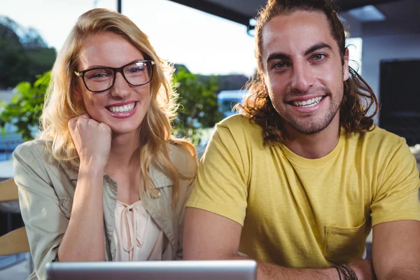
M28 82L19 83L12 101L7 105L0 104L0 128L3 134L6 123L10 123L18 127L22 139L34 138L31 132L38 127L50 78L50 72L46 72L38 76L33 85Z

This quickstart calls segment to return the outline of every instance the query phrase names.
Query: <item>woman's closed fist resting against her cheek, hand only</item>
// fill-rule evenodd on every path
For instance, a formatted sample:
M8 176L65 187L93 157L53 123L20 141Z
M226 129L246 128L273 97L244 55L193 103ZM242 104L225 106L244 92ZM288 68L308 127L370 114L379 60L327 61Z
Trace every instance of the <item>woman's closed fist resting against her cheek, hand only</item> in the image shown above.
M84 113L69 120L69 130L80 165L105 167L111 150L111 128Z

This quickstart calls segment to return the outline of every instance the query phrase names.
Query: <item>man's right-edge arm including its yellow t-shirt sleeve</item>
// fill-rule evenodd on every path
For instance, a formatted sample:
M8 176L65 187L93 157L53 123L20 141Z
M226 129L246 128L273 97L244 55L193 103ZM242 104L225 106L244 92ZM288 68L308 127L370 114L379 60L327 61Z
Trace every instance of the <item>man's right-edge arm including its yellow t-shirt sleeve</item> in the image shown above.
M372 258L379 280L420 279L419 171L405 139L389 137L370 206Z

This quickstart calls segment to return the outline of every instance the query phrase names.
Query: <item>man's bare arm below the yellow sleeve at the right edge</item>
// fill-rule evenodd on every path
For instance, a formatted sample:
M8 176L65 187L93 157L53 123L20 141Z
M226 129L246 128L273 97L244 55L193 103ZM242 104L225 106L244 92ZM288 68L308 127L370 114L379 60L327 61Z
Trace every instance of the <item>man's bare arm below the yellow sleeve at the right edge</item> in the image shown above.
M379 280L420 278L420 221L393 221L373 227L372 256Z

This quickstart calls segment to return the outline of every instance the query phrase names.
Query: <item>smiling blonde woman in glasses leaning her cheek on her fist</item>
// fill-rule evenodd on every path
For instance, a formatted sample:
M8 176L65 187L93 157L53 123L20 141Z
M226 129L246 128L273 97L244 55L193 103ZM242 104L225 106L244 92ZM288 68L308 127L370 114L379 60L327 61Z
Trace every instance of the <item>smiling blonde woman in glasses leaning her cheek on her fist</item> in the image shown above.
M52 69L41 137L13 154L31 279L54 261L182 258L197 160L171 136L171 74L124 15L80 16Z

